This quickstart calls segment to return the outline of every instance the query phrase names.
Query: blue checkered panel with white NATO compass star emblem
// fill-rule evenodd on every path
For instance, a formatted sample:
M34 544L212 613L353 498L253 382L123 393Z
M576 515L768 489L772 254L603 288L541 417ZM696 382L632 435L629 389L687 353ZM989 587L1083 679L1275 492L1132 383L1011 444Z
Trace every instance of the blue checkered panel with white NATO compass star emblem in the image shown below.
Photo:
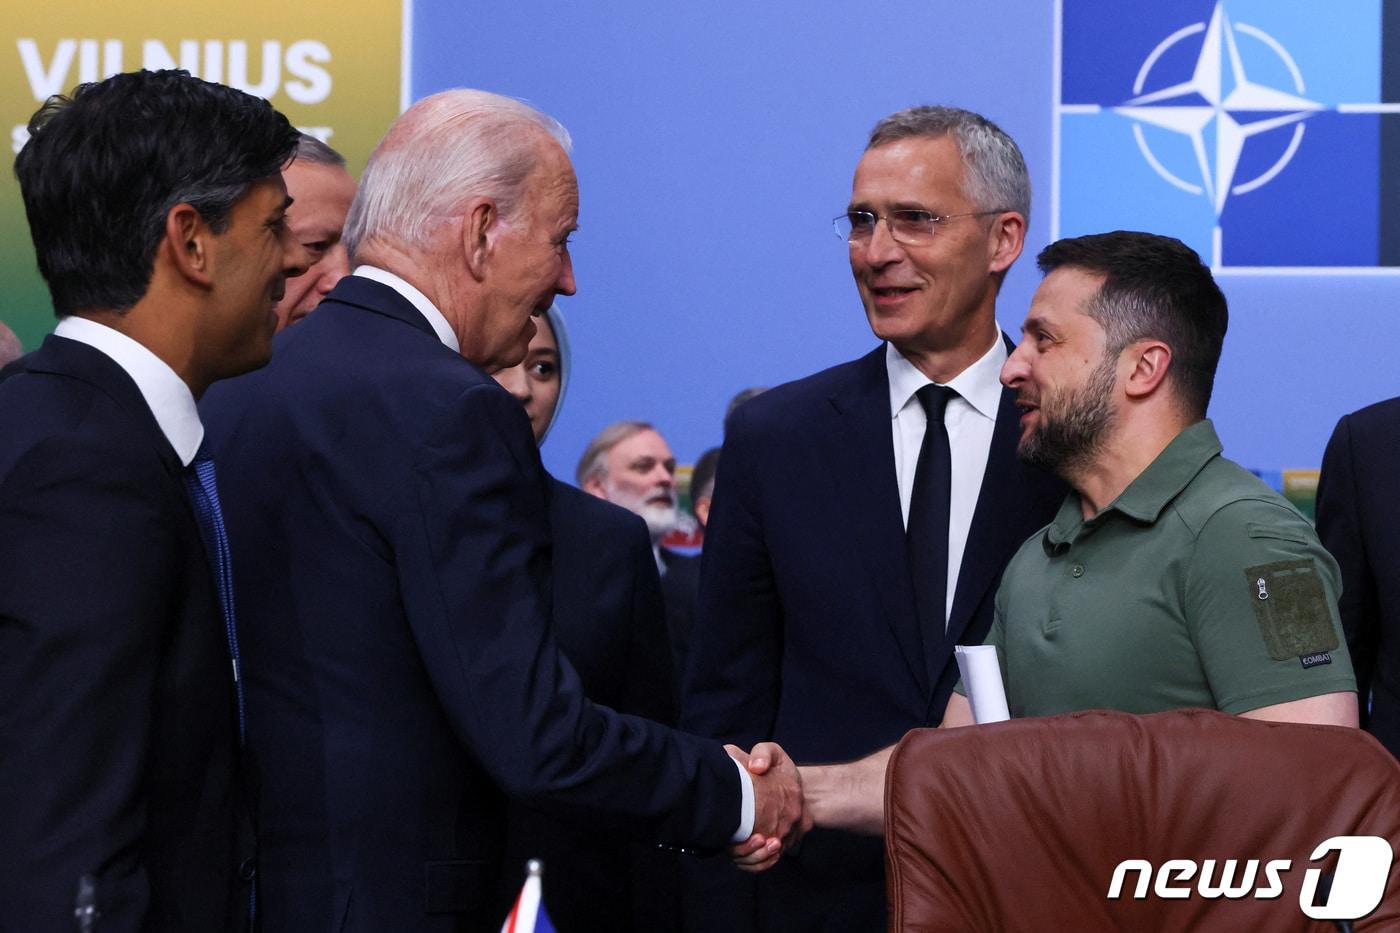
M1056 238L1400 272L1400 22L1380 0L1060 0L1057 20Z

